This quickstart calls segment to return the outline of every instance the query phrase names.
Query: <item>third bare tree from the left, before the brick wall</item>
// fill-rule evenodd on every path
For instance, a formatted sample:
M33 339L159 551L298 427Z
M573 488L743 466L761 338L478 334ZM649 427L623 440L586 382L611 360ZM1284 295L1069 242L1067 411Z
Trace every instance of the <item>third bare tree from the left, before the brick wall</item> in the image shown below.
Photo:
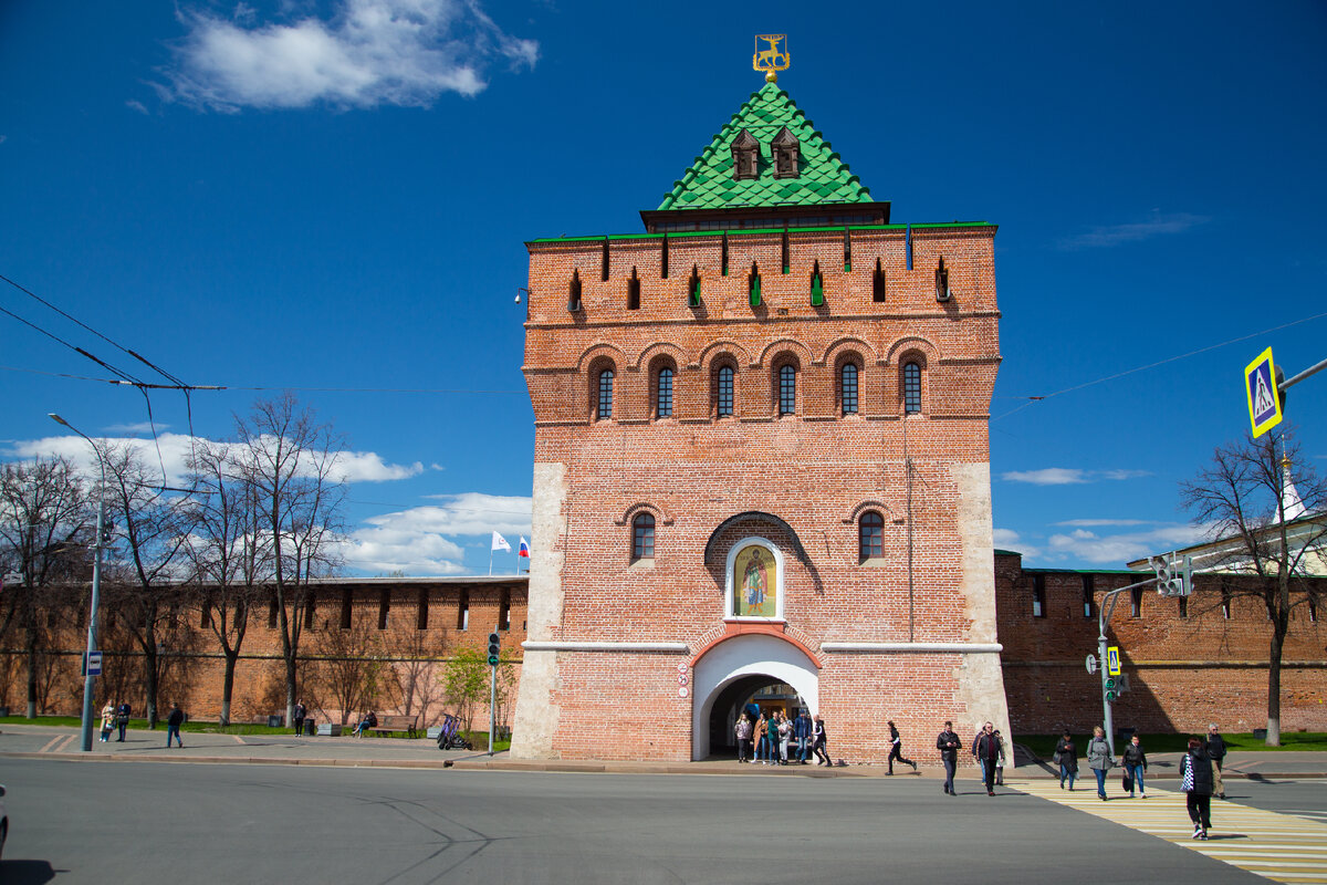
M184 552L202 622L222 646L222 726L231 722L235 667L248 613L271 575L272 544L261 531L257 495L227 443L199 441L188 458L192 494L183 511Z

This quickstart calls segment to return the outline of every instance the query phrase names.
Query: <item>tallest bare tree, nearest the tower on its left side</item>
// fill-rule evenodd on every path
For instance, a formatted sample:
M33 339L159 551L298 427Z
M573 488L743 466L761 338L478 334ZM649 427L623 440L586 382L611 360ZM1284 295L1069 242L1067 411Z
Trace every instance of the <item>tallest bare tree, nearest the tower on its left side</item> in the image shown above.
M287 393L255 403L236 419L244 482L253 488L263 532L271 543L271 585L285 663L285 718L295 715L300 634L309 579L330 573L337 561L345 480L338 467L344 444L330 425Z

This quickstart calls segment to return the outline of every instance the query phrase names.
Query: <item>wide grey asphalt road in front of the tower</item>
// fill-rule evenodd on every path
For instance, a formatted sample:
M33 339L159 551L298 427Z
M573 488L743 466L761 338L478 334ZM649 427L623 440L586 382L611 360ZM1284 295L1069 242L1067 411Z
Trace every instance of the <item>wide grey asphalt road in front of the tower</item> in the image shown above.
M5 885L1267 881L973 780L23 759L0 782ZM1322 782L1229 792L1327 812Z

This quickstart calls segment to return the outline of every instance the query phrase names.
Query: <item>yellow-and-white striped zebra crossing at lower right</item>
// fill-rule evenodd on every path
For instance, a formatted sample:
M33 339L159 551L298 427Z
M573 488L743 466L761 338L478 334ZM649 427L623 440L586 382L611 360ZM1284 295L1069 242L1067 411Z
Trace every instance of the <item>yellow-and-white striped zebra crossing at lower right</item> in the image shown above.
M1149 787L1147 800L1115 792L1111 801L1101 801L1091 776L1080 780L1074 792L1060 789L1055 779L1007 782L1007 785L1278 882L1327 884L1327 813L1322 811L1302 817L1213 799L1209 839L1200 841L1192 839L1193 824L1182 792ZM1111 787L1119 791L1117 782Z

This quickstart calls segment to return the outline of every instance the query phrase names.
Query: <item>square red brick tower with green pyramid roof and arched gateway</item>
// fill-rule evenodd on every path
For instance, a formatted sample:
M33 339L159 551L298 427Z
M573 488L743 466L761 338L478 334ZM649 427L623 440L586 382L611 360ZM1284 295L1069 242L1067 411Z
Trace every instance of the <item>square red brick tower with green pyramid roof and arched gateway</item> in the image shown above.
M1009 731L985 222L892 224L768 82L644 234L529 249L533 560L512 755L703 759L805 707Z

